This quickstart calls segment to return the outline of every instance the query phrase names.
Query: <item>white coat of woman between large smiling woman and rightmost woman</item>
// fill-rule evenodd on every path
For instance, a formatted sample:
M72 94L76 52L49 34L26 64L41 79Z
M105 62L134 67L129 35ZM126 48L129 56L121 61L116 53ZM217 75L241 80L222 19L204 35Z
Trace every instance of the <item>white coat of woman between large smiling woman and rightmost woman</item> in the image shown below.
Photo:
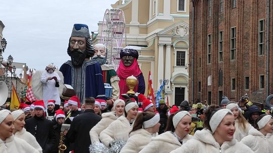
M253 126L251 126L251 124L247 123L246 128L243 129L243 127L240 125L238 119L235 119L235 133L234 133L234 137L235 139L237 139L238 141L241 141L242 138L244 138L245 136L248 135L248 131L251 128L254 128Z

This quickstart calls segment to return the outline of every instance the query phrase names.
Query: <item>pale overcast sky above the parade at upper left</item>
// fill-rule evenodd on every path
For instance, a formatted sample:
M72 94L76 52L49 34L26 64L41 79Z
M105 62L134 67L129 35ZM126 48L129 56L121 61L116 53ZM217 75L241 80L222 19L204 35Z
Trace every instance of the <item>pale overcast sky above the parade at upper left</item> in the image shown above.
M69 37L75 23L87 24L89 32L98 30L106 9L117 0L6 0L0 2L3 37L14 62L43 70L49 63L60 66L67 55Z

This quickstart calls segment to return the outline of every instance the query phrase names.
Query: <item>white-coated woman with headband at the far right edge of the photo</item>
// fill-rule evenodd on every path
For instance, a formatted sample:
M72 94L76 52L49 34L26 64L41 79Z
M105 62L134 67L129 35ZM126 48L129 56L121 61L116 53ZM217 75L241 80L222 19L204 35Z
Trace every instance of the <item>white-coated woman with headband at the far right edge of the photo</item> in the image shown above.
M254 152L269 153L273 151L273 118L271 115L260 115L255 121L255 127L250 129L248 136L241 142L249 146Z

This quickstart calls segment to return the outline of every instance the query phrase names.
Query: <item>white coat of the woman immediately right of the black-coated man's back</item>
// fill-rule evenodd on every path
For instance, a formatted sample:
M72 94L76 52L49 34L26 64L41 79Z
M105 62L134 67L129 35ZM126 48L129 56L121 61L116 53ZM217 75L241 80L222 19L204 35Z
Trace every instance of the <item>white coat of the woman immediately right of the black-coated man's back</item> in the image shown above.
M117 118L118 117L116 116L115 112L102 114L102 120L96 126L94 126L89 132L92 144L94 144L94 142L96 141L100 142L100 139L99 139L100 133L104 129L106 129Z

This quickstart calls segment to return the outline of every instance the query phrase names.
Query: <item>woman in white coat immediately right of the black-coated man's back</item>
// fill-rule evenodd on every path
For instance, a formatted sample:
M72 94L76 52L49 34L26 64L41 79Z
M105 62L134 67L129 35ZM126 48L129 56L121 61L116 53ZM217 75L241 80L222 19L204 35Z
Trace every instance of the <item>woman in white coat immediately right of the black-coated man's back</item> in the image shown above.
M114 112L103 113L102 120L96 124L89 132L91 143L100 142L99 135L106 129L113 121L117 120L118 117L124 114L125 102L121 99L117 99L114 102L113 108Z

